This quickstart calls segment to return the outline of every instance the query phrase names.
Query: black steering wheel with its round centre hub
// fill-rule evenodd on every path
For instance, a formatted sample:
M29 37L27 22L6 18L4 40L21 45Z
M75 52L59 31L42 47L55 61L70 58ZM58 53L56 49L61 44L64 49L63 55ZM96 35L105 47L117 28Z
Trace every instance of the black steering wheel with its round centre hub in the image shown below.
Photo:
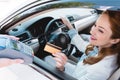
M55 28L54 28L55 26ZM61 19L52 19L45 27L44 30L44 41L40 43L41 45L41 51L43 50L45 44L50 41L48 38L50 36L50 33L57 30L61 26L65 26ZM66 26L65 26L66 27ZM52 31L51 31L52 30ZM49 39L49 40L48 40ZM67 56L69 56L72 53L72 49L74 46L70 45L70 38L67 33L61 32L61 33L54 33L52 35L51 41L53 41L53 44L59 47L62 47L62 52L64 52Z

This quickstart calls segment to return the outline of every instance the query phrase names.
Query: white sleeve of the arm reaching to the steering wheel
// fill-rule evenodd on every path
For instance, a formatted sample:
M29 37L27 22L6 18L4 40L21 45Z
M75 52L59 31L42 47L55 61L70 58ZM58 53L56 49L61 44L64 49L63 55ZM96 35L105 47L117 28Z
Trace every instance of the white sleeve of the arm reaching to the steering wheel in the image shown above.
M89 44L88 41L84 41L82 37L80 37L79 34L76 34L72 39L71 39L71 44L76 45L76 47L82 51L85 52L85 49L87 45Z

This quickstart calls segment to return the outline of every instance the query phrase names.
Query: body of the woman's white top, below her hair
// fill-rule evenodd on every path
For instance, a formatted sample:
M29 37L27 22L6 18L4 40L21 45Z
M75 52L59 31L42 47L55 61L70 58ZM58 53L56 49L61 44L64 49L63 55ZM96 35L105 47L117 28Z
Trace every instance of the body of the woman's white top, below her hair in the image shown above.
M117 55L107 56L93 65L84 65L80 61L73 72L73 77L78 80L107 80L117 68L116 57Z

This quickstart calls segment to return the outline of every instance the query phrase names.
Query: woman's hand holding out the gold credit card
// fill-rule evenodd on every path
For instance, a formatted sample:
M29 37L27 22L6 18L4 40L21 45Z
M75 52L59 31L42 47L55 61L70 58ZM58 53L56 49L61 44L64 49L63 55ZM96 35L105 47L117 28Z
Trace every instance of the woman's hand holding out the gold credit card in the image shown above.
M68 58L64 53L55 53L53 54L54 60L56 61L56 67L63 71L64 70L64 65L66 64Z

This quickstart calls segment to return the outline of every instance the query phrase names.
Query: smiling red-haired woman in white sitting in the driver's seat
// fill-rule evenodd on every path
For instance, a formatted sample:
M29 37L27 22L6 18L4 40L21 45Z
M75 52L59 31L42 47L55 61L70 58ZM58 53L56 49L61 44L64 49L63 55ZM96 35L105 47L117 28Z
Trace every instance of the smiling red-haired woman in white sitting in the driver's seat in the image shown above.
M84 52L77 66L70 73L73 77L78 80L107 80L120 66L119 16L120 12L104 11L91 28L89 45L78 36L72 25L62 18L70 29L68 33L72 43ZM82 48L83 46L87 46L86 50ZM62 53L56 53L53 56L55 56L56 67L63 71L67 57Z

